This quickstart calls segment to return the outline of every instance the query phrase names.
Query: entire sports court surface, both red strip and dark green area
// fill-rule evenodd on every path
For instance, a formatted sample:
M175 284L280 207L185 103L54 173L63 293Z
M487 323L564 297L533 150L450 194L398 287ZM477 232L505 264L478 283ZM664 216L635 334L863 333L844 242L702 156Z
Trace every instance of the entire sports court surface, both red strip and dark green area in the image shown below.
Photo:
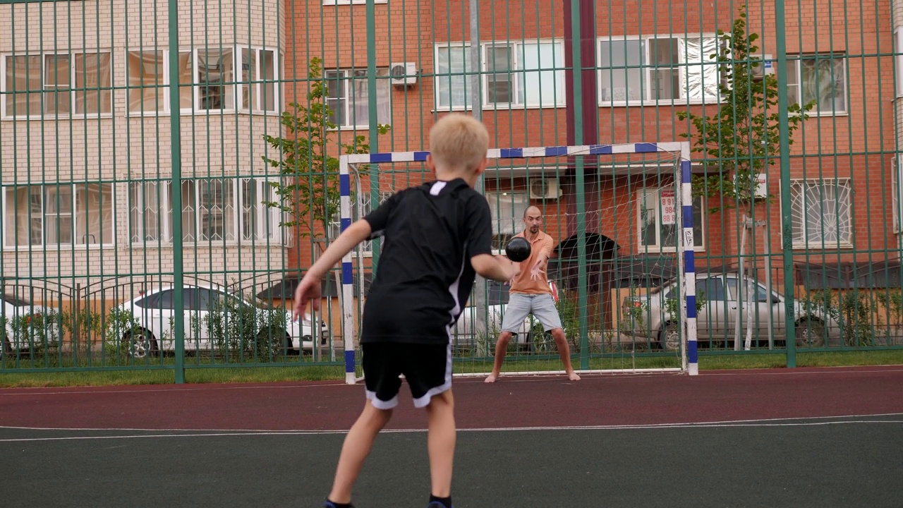
M457 508L903 506L903 366L454 387ZM406 389L358 508L426 504L425 415ZM0 390L0 504L320 506L363 390Z

